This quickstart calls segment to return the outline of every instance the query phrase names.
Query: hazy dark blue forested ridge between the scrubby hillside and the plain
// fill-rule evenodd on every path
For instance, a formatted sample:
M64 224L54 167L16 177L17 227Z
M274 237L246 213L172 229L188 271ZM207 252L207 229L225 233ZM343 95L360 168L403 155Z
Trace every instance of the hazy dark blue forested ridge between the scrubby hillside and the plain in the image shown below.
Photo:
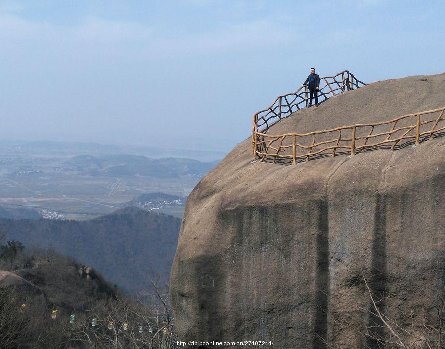
M51 247L100 270L131 293L150 278L167 280L175 254L180 219L135 207L89 221L0 219L8 240Z

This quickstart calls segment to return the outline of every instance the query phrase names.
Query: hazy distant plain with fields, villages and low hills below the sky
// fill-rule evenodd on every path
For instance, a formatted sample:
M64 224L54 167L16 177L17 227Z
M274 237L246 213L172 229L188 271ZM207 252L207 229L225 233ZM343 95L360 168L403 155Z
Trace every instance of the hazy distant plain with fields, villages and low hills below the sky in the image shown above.
M218 152L182 151L195 158L156 159L159 154L169 156L175 152L83 143L1 141L0 206L55 212L61 219L90 219L109 214L145 193L185 198L223 157ZM152 209L182 218L184 204L185 200Z

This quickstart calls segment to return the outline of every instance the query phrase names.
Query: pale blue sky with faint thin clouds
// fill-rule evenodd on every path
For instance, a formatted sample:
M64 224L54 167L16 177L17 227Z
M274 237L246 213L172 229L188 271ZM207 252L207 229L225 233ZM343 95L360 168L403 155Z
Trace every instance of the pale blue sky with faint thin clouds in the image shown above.
M0 0L0 139L228 151L312 66L443 72L443 16L443 0Z

